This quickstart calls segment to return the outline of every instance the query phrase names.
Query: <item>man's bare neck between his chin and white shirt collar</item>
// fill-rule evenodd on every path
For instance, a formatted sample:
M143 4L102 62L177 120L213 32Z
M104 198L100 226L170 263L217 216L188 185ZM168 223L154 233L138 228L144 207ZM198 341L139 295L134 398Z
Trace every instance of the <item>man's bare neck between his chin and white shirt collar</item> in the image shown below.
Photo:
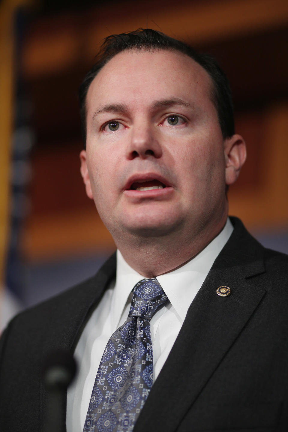
M175 232L167 237L139 236L133 237L133 241L129 238L128 242L115 242L130 267L146 278L153 278L175 270L195 257L222 231L225 222L226 219L184 238Z

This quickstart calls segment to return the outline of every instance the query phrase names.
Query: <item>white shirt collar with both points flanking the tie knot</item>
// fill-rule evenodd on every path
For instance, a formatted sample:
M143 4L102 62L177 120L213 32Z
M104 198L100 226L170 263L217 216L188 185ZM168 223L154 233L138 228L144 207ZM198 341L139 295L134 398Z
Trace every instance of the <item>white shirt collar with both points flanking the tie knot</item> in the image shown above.
M228 218L222 231L199 254L177 270L157 276L158 282L182 321L232 231L233 226ZM111 302L114 323L119 322L130 292L141 279L144 279L144 276L133 270L117 250L116 283Z

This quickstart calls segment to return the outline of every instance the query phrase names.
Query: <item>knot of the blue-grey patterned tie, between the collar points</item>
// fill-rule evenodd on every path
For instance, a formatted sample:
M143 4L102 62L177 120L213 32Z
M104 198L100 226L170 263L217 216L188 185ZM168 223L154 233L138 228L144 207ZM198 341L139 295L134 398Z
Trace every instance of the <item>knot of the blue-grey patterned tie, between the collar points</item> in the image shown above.
M163 291L156 278L140 280L133 290L133 298L129 311L129 317L141 317L150 320L159 306L167 301L167 295Z

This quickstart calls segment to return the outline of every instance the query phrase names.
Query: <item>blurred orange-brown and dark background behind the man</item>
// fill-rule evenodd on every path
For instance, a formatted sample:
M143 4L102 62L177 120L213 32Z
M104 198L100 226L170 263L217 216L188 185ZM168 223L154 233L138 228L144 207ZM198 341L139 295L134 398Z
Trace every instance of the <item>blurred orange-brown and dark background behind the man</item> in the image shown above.
M114 251L80 177L77 92L101 40L139 27L218 59L248 150L230 214L288 253L286 0L2 0L2 328L17 310L94 274Z

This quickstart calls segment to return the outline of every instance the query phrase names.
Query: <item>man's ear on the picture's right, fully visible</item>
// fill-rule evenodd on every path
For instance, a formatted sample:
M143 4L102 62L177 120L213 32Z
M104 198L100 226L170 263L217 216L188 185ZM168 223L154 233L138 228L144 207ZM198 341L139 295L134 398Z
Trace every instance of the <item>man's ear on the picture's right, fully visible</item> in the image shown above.
M246 144L241 135L233 135L224 141L225 180L226 184L233 184L240 174L246 160Z

